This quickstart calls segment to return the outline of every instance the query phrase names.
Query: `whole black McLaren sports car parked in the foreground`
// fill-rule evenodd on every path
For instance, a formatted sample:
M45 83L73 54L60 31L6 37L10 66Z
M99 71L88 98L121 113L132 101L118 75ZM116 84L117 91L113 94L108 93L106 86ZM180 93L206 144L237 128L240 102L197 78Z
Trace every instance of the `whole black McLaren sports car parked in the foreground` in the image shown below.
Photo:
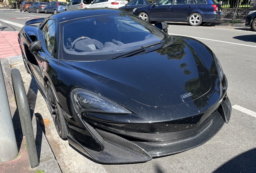
M29 20L19 32L25 67L60 137L96 161L186 151L229 122L227 79L215 54L157 27L93 8Z

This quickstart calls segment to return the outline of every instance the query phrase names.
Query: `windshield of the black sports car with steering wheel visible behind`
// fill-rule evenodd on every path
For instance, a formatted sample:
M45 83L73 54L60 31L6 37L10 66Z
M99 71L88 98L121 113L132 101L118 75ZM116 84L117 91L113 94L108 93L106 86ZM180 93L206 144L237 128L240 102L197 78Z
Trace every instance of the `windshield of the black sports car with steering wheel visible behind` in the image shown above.
M108 60L141 47L158 49L168 38L152 24L123 13L61 22L60 33L59 58L74 61Z

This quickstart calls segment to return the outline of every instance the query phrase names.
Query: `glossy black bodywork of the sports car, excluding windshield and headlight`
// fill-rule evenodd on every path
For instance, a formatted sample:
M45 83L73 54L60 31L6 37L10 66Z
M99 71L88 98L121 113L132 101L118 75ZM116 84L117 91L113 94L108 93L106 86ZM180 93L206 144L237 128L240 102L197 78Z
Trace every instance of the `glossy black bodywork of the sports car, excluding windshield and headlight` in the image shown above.
M109 13L125 12L78 10L52 15L47 20L58 23ZM19 32L25 67L46 102L46 83L50 82L66 120L68 141L93 159L103 163L149 161L202 145L228 123L231 104L226 94L227 79L223 75L220 80L214 54L202 42L171 36L173 42L169 45L145 54L103 61L67 61L60 60L58 53L47 53L44 44L41 51L29 50L32 42L40 47L36 40L43 39L41 28L47 20L39 26L24 26ZM59 40L59 33L56 37ZM131 113L77 115L70 98L75 88L100 94ZM191 95L181 97L188 93Z

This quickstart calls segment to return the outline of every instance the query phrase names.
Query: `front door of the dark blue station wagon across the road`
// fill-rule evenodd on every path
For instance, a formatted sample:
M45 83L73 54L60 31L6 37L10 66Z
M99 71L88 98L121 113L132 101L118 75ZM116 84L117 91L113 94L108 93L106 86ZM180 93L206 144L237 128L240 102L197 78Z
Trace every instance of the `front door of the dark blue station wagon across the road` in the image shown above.
M171 4L173 0L159 0L149 8L149 18L158 21L171 20Z

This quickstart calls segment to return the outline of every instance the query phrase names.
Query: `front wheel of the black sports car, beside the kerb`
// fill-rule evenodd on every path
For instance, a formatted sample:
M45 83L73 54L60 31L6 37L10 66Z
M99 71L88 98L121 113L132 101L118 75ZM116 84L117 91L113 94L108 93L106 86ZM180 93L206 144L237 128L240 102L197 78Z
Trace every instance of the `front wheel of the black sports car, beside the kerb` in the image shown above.
M49 81L46 84L46 96L47 96L47 106L54 120L54 125L59 136L62 139L67 139L68 130L66 126L66 121L62 114L62 109L60 105L56 102L54 94L52 92L52 87Z

